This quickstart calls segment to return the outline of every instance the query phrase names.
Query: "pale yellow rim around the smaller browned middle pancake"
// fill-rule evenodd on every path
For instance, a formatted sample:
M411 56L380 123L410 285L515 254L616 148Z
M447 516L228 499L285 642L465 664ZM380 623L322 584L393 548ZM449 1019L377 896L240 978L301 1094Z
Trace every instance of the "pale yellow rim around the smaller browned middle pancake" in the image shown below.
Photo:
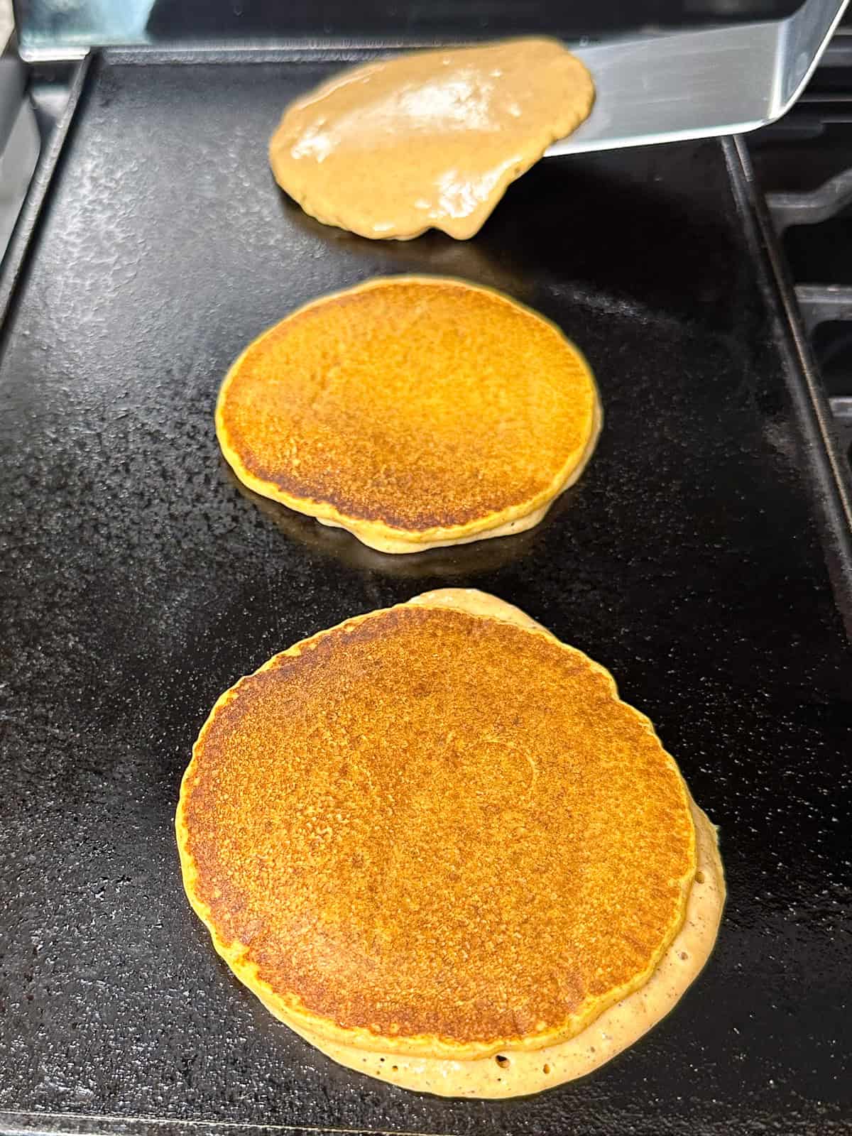
M496 510L485 515L484 517L479 517L476 520L466 521L460 525L437 525L431 528L406 529L387 525L385 521L379 519L351 516L327 500L307 496L302 498L293 493L289 493L286 490L281 488L281 486L275 482L258 477L244 463L239 450L232 443L231 435L228 434L227 425L225 423L225 402L231 384L239 374L240 367L242 366L242 362L248 353L258 346L258 344L260 344L267 335L275 332L282 324L294 318L295 316L302 315L311 308L318 308L329 300L336 300L346 295L356 295L360 292L370 291L371 289L382 289L389 283L402 282L407 284L449 284L474 292L485 292L488 295L501 300L503 303L508 303L510 307L520 308L521 311L525 311L527 315L531 315L535 319L538 319L543 324L548 325L576 356L582 370L588 381L592 393L592 406L588 415L586 437L582 445L569 454L559 473L557 473L551 479L550 485L548 485L546 488L542 490L540 493L535 494L535 496L528 499L527 501L523 501L520 504ZM562 329L553 323L553 320L548 319L546 316L542 316L541 312L536 311L534 308L515 300L512 296L506 295L506 293L500 292L498 289L486 287L482 284L470 284L468 281L453 276L406 274L400 276L374 276L353 287L340 289L336 292L329 292L325 295L317 296L316 299L301 304L299 308L295 308L293 311L287 312L283 319L273 324L272 327L267 327L240 352L237 358L228 368L216 399L215 424L216 436L225 460L242 484L252 492L260 494L260 496L277 501L279 504L284 504L289 509L293 509L295 512L301 512L307 517L314 517L320 524L326 525L329 528L343 528L348 533L351 533L352 536L357 537L362 544L366 544L367 548L374 549L376 552L406 554L412 552L425 552L429 549L449 548L453 544L469 544L473 541L487 540L490 537L510 536L517 533L523 533L526 529L532 528L534 525L540 524L556 499L579 479L588 465L603 427L603 408L601 406L601 398L598 391L594 374L592 368L588 366L585 356L579 348L568 339Z

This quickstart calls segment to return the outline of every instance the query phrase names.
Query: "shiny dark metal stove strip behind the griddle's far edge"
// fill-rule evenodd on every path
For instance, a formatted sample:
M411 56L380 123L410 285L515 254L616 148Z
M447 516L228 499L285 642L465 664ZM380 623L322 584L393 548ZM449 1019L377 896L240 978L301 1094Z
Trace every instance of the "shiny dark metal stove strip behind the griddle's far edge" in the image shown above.
M8 2L8 0L7 0ZM385 45L446 44L509 35L553 35L567 43L649 27L782 19L801 0L15 0L27 58L110 44L265 43L291 39L381 40Z

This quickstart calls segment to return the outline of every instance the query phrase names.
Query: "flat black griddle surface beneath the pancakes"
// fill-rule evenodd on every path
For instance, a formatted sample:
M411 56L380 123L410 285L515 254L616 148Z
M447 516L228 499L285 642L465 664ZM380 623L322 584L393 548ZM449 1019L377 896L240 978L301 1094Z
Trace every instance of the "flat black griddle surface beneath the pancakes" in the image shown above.
M852 1131L849 529L743 153L548 160L470 242L370 243L307 218L266 161L287 100L357 58L94 58L7 258L0 1128ZM220 458L214 401L249 340L408 272L502 289L594 368L599 449L531 533L383 557ZM277 1024L191 912L173 835L226 686L442 585L519 604L612 670L728 874L717 950L670 1017L507 1103L379 1084Z

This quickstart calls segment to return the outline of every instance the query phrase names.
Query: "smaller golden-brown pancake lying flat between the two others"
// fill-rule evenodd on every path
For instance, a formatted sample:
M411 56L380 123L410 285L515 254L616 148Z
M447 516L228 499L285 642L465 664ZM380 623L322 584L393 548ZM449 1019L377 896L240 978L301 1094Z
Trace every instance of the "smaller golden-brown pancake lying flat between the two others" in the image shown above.
M250 490L399 553L537 524L600 424L594 378L559 328L428 276L291 314L242 352L216 407Z

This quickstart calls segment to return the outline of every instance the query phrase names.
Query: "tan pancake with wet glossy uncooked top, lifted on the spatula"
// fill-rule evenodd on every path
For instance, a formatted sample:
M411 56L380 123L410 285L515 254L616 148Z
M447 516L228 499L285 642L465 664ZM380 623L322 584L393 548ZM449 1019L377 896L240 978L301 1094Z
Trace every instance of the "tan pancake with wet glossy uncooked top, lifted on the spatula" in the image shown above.
M593 100L588 72L556 40L418 51L345 70L293 102L269 161L327 225L463 240Z

